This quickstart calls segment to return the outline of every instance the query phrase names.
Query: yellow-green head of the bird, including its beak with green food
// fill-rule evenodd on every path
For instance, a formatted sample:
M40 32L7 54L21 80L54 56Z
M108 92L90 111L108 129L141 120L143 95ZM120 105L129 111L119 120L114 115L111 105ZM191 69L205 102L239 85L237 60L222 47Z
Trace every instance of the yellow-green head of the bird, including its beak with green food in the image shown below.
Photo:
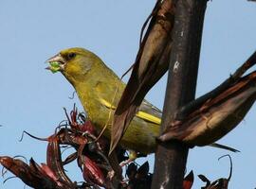
M68 48L46 60L52 73L61 72L71 83L84 79L87 73L101 67L101 59L84 48Z

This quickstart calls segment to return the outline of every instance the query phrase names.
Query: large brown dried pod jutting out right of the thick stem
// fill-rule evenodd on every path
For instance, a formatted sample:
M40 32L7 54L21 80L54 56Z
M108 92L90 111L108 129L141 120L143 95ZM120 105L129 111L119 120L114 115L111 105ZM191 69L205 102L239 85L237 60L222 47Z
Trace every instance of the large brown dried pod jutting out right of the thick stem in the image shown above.
M159 140L180 140L191 146L210 145L244 119L255 99L256 71L230 84L183 120L175 120Z

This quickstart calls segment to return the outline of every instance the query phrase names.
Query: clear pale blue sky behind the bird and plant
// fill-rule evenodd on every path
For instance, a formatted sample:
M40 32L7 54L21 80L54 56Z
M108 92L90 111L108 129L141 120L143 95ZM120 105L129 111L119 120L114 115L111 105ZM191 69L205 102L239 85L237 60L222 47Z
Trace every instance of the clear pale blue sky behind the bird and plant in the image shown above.
M0 2L0 155L33 157L46 162L46 143L25 137L23 130L48 136L64 119L63 107L71 109L77 98L61 74L45 70L45 61L61 49L82 46L98 54L119 76L134 62L140 28L155 0L1 0ZM256 3L246 0L214 0L206 14L197 96L229 77L256 49ZM253 68L255 70L255 68ZM128 78L125 78L126 80ZM147 95L162 108L166 88L163 77ZM80 106L80 110L82 110ZM210 180L229 175L229 153L233 161L230 188L256 187L256 107L219 142L241 150L230 154L212 147L190 150L187 171L204 174ZM153 167L154 156L149 158ZM145 160L141 160L144 162ZM78 177L68 166L71 178ZM11 174L9 174L11 176ZM23 188L19 179L0 188ZM203 186L195 177L193 188Z

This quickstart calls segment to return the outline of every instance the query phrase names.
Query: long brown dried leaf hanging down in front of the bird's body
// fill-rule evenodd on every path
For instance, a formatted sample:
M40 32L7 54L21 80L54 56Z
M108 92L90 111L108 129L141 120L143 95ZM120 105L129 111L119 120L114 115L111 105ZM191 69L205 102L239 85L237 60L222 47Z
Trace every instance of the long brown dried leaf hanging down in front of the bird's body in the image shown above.
M156 5L153 11L155 13L138 50L132 75L114 114L110 153L118 145L145 95L168 70L174 5L170 1L159 0Z

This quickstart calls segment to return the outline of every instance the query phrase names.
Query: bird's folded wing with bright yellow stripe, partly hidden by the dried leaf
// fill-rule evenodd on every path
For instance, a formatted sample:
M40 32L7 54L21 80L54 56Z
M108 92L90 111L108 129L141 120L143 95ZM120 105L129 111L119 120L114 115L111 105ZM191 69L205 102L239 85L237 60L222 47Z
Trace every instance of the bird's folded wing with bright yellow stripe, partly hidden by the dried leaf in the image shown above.
M100 102L106 108L116 110L116 107L107 100L101 98ZM143 119L147 122L152 122L157 125L160 125L161 123L161 115L161 111L146 100L142 102L136 114L138 118Z

